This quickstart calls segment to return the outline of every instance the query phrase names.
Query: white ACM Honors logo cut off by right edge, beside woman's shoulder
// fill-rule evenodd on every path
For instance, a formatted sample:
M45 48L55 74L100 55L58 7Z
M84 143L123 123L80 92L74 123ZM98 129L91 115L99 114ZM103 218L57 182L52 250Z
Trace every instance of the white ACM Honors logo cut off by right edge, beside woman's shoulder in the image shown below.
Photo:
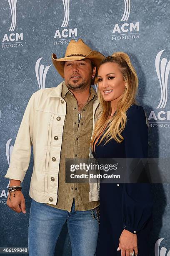
M164 50L158 52L155 58L155 69L160 83L160 102L157 109L165 109L168 100L168 77L170 73L170 60L166 58L161 58ZM170 122L165 123L170 120L170 111L151 111L149 118L151 127L170 127Z

